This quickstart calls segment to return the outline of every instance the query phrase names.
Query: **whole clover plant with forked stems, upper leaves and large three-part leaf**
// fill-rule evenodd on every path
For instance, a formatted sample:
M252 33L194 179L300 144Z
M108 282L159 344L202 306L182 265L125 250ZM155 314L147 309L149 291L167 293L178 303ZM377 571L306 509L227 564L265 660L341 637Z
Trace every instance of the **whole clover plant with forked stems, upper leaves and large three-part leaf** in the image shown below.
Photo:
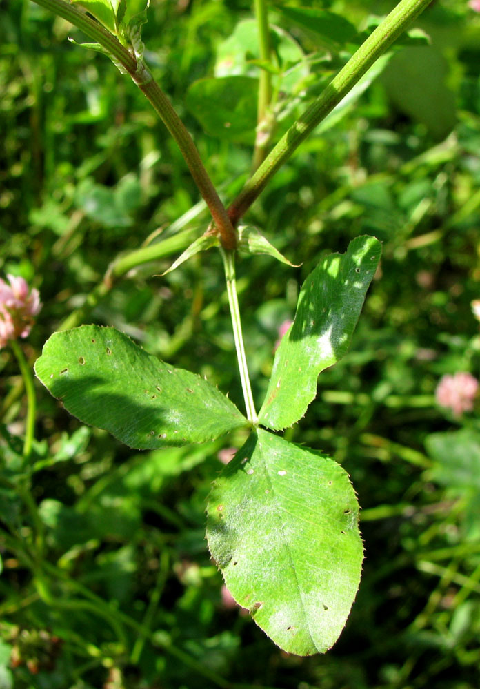
M248 430L243 447L213 482L208 548L239 605L283 650L298 655L324 652L339 637L359 586L363 546L359 505L346 471L279 432L303 417L319 373L348 350L381 247L376 238L363 236L345 253L319 260L301 288L294 322L274 355L257 411L235 263L239 256L248 260L259 253L288 260L241 219L306 136L352 106L388 59L386 50L429 1L402 0L363 33L327 10L277 8L286 21L306 26L332 50L353 53L319 95L314 95L315 74L297 43L270 25L265 1L255 1L256 20L242 21L220 46L216 74L192 84L186 94L207 132L253 145L252 174L226 206L144 58L141 28L148 21L148 2L34 0L79 28L94 41L83 45L105 53L128 74L179 145L212 221L203 235L182 247L171 269L198 251L219 249L245 409L237 409L208 380L159 360L112 327L82 325L54 333L35 365L37 376L79 420L106 429L132 448L202 443L234 429ZM424 38L412 33L407 40ZM252 59L245 59L247 50ZM233 74L232 61L237 61ZM303 101L308 107L298 114ZM139 249L130 266L159 255L155 246Z

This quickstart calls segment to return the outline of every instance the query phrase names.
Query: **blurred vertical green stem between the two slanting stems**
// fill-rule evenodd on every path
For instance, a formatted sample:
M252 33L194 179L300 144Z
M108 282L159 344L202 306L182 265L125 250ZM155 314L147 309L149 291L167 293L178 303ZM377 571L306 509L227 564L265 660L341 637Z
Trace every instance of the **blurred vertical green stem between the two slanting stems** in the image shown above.
M268 8L265 0L254 0L255 14L259 28L260 59L270 61L270 27L268 25ZM253 153L253 169L263 163L270 140L271 123L268 121L268 108L272 101L272 75L268 70L260 70L259 98L257 110L257 136Z

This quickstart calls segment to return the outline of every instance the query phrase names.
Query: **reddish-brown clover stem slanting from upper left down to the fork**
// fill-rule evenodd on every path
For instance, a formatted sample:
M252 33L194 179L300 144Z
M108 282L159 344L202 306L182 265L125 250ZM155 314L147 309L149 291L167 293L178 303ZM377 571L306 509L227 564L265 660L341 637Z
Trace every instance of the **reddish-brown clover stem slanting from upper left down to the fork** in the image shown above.
M170 101L163 93L157 82L154 80L150 70L143 61L137 60L126 48L121 45L109 31L94 19L90 19L87 14L81 12L76 7L64 0L33 0L41 7L58 14L77 28L81 29L87 36L100 43L112 59L119 63L121 67L130 74L134 83L145 94L154 109L159 114L163 124L167 127L174 140L177 142L181 154L185 159L190 173L197 185L199 192L203 196L212 215L214 225L221 237L221 243L225 249L234 249L237 245L237 238L226 212L223 203L217 194L208 172L201 161L197 147L188 134L185 125L175 112Z

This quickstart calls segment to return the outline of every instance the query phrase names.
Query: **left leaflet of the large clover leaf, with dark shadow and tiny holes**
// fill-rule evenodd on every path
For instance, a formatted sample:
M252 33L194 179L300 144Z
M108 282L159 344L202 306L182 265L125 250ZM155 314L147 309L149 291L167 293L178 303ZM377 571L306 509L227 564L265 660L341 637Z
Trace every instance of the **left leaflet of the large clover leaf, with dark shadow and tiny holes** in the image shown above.
M206 442L248 425L206 380L169 366L114 328L54 333L35 373L83 423L137 449Z

